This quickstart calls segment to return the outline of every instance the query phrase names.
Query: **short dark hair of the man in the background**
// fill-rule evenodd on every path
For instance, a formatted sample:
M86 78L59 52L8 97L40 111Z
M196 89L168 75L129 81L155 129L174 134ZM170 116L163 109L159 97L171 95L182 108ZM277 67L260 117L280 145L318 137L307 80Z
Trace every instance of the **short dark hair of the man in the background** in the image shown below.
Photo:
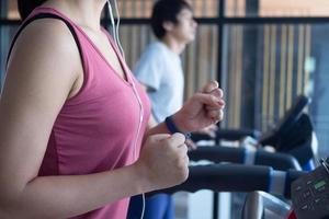
M166 35L163 22L169 21L174 24L178 23L177 15L183 10L189 9L192 11L191 5L184 0L159 0L154 5L151 16L151 27L158 38Z

